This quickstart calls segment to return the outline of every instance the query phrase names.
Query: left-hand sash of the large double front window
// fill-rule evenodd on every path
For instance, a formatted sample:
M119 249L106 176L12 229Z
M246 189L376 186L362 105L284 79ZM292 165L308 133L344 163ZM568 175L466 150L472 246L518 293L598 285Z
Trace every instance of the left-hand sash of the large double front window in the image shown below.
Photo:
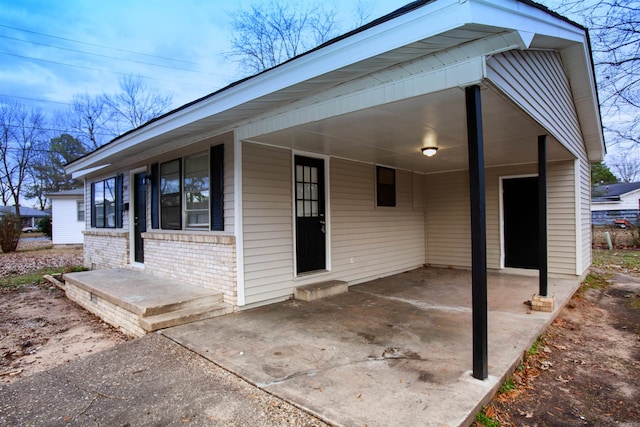
M160 224L168 230L182 228L180 166L180 159L160 165Z

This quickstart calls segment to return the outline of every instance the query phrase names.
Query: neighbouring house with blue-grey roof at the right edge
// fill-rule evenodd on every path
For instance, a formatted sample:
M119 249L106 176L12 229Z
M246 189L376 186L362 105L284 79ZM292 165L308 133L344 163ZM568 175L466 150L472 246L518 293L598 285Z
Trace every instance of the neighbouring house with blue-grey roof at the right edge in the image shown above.
M639 209L640 182L599 185L591 190L593 225L613 225L622 219L636 224Z

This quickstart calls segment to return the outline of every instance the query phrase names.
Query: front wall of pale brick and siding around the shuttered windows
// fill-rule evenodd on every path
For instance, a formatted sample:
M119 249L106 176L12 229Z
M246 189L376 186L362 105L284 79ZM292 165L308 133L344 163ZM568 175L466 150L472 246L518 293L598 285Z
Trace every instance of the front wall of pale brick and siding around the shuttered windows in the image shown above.
M224 232L194 232L182 230L153 230L151 228L151 194L147 191L147 233L144 239L145 272L163 277L179 278L182 282L216 289L224 294L224 302L237 304L236 244L234 231L234 160L233 139L227 135L210 138L195 144L189 152L168 153L149 162L173 160L210 146L225 144L224 160ZM139 169L139 168L134 168ZM133 190L129 170L123 174L123 203L130 203ZM115 176L116 172L91 178L85 185L85 250L84 265L92 269L131 267L130 212L123 212L123 227L119 229L91 228L91 186L93 181Z

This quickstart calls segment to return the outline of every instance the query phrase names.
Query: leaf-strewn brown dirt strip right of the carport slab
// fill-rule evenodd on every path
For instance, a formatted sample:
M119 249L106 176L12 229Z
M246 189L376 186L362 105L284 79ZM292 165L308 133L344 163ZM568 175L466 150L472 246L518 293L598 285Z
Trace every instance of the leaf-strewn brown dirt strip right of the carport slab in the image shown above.
M498 425L640 425L640 276L594 273L611 285L563 308L488 406Z

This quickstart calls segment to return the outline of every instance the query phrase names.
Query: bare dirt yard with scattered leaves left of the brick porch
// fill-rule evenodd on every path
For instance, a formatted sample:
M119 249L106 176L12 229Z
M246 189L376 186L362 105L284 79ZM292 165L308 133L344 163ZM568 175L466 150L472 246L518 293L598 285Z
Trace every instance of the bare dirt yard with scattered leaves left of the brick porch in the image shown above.
M50 246L50 242L21 242L18 252L0 253L0 279L81 263L81 250L43 250L47 243ZM48 282L0 288L0 383L17 381L126 340Z

